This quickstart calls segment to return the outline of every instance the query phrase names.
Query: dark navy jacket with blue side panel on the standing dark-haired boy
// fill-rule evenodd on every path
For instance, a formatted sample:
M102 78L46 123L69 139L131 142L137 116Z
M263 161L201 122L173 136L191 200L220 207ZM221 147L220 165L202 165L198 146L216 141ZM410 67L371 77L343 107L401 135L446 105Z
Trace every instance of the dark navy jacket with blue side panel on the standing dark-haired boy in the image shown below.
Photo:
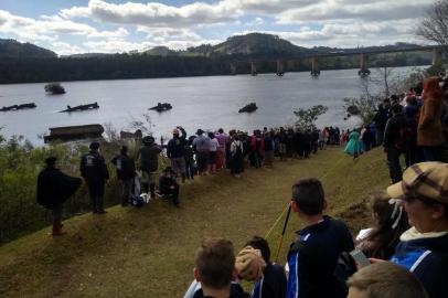
M288 254L287 298L338 297L334 268L342 252L354 248L346 225L324 216L323 221L297 232L300 240Z

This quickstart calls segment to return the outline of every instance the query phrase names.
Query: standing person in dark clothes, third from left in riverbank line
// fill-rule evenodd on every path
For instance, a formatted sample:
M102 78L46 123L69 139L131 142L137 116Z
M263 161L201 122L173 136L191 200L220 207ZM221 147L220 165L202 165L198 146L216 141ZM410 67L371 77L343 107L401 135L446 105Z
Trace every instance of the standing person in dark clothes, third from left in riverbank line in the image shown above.
M136 177L136 163L128 156L128 147L122 146L120 153L113 158L111 163L117 169L117 178L121 181L121 206L127 206L131 195L132 180Z

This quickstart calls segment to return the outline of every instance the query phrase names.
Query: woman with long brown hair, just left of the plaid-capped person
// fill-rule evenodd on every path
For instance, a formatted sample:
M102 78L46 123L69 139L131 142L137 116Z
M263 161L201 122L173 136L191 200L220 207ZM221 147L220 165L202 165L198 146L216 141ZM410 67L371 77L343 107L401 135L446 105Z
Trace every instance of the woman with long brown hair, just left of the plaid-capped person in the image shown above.
M377 193L372 198L371 209L375 224L360 232L356 246L367 257L390 259L399 236L409 228L409 224L401 202L384 200L384 196L385 194Z

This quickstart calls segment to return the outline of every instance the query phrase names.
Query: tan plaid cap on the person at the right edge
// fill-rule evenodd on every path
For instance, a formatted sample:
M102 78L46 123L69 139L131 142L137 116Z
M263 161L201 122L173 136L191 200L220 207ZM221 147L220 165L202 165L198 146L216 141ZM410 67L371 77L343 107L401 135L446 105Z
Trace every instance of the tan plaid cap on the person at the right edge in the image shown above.
M387 188L391 198L415 196L448 204L448 163L420 162L403 173L403 180Z

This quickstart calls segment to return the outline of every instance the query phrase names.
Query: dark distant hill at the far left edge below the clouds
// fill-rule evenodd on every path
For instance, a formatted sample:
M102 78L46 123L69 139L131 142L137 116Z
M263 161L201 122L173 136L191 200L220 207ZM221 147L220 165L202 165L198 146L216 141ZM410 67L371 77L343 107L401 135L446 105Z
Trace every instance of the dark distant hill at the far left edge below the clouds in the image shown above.
M52 58L56 53L31 43L0 39L0 58Z

